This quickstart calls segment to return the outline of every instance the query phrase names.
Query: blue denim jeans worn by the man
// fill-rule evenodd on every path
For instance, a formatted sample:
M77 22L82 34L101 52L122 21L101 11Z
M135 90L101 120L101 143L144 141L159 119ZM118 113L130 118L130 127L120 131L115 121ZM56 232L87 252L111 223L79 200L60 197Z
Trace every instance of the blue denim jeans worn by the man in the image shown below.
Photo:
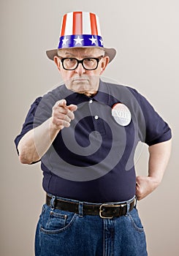
M78 214L58 210L53 208L53 205L50 207L45 204L42 207L36 231L35 255L146 256L148 254L145 233L136 207L125 216L102 219L99 216L83 215L83 203L80 203Z

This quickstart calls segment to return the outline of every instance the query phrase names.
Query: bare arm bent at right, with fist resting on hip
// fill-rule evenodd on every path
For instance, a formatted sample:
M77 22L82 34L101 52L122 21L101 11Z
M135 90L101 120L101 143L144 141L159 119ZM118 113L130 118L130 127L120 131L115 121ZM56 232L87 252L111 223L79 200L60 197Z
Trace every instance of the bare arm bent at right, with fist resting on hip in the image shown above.
M137 176L136 195L141 200L159 186L170 159L171 140L149 147L148 177Z

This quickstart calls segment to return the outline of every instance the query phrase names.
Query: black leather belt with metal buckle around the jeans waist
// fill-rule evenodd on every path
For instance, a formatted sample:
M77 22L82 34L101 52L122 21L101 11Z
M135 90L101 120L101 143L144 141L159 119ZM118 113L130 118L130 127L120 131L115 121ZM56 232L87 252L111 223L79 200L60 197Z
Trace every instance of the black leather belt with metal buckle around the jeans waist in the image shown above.
M46 204L50 206L50 200L52 197L46 196ZM135 198L129 204L129 211L135 206ZM75 214L79 213L79 203L71 201L60 200L56 198L54 201L54 208L58 208L61 211L71 211ZM102 203L101 205L83 203L83 214L85 215L99 215L101 218L112 219L113 217L121 217L127 213L127 203L110 204Z

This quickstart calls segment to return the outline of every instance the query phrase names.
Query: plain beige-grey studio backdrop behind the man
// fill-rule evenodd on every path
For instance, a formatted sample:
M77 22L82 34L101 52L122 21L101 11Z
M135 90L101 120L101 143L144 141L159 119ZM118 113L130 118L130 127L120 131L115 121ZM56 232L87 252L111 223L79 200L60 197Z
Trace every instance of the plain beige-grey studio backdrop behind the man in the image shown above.
M13 140L31 102L61 82L45 50L56 48L61 17L83 10L99 15L104 46L118 50L104 75L145 95L172 127L170 164L161 186L138 203L151 256L177 256L178 61L176 0L24 1L0 4L1 19L1 245L2 256L34 255L34 231L45 192L39 165L21 165ZM155 124L153 124L155 125ZM146 175L148 148L137 173Z

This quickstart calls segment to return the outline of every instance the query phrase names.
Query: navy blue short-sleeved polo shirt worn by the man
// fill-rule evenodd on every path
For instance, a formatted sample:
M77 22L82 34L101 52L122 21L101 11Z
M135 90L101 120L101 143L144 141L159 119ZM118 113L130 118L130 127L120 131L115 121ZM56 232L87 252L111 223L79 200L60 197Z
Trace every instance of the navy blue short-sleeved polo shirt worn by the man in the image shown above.
M98 93L87 97L63 85L34 101L15 138L16 147L26 132L50 118L53 105L60 99L78 108L70 127L58 132L40 160L45 192L91 203L134 197L137 144L142 141L151 146L170 140L168 124L130 87L100 80ZM118 103L129 109L132 118L127 125L119 124L112 115Z

